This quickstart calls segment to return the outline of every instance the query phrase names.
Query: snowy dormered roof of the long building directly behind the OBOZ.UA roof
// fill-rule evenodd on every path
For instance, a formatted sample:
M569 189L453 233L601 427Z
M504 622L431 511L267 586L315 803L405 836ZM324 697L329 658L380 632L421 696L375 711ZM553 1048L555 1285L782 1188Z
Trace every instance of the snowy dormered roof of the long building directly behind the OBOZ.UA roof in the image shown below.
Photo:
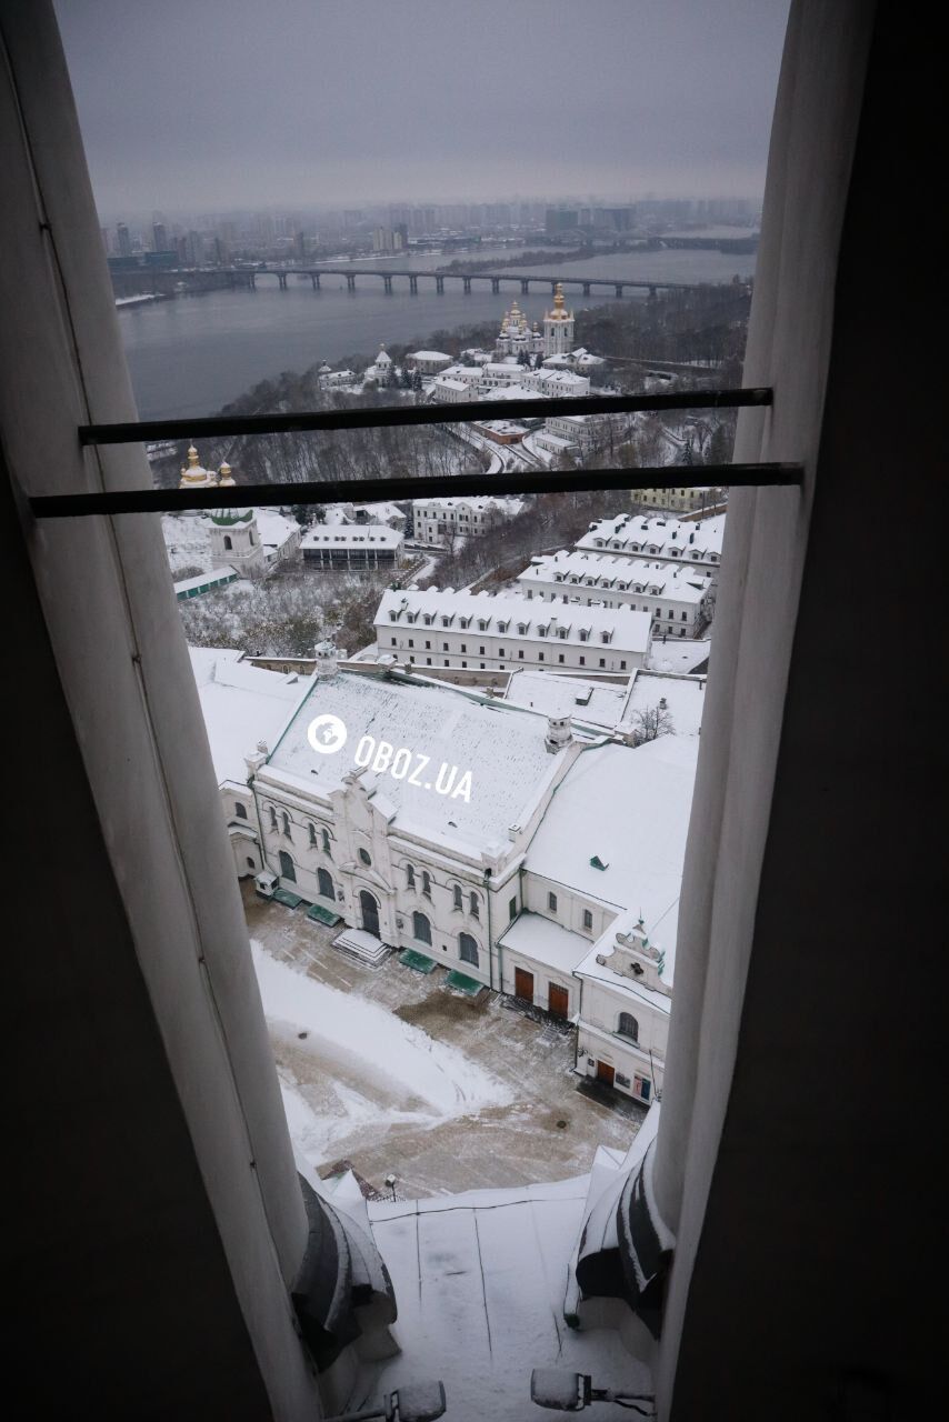
M391 614L396 616L391 616ZM632 611L629 607L578 607L558 603L541 603L528 600L519 593L470 593L465 589L428 587L420 592L417 587L388 589L383 593L376 613L376 626L390 626L391 623L407 623L430 616L435 623L427 626L444 626L442 617L451 619L451 626L458 627L461 619L471 619L472 631L488 631L502 637L541 636L555 641L586 643L589 646L623 647L627 651L645 651L649 646L652 617L649 613ZM478 621L488 626L479 629ZM505 623L501 631L498 623ZM525 631L519 631L525 627ZM563 630L563 637L561 637ZM580 633L586 633L585 637ZM603 634L609 634L609 641L603 643Z

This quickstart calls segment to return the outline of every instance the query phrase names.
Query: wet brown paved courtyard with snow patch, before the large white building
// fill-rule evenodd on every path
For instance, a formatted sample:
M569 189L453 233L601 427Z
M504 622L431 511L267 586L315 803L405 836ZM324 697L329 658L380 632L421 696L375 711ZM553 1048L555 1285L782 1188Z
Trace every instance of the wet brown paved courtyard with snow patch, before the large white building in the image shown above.
M371 968L245 883L290 1135L319 1173L347 1160L400 1199L585 1175L645 1112L576 1091L575 1034L488 990L475 1000L393 956Z

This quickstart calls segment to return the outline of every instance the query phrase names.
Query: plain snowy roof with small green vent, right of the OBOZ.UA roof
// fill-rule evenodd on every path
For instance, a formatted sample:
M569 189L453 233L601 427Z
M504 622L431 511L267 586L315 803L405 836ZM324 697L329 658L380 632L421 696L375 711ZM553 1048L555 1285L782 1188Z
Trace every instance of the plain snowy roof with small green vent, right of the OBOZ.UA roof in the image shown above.
M526 853L532 873L642 913L670 966L697 757L691 735L582 751Z

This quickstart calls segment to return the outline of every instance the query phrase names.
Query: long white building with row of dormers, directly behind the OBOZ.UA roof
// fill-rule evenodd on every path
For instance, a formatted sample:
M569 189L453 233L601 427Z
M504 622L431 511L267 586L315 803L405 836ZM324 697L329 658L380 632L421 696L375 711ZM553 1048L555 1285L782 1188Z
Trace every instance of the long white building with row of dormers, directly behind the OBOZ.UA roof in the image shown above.
M633 671L646 661L652 617L629 607L538 606L518 593L417 587L383 593L376 646L425 667L508 671Z

